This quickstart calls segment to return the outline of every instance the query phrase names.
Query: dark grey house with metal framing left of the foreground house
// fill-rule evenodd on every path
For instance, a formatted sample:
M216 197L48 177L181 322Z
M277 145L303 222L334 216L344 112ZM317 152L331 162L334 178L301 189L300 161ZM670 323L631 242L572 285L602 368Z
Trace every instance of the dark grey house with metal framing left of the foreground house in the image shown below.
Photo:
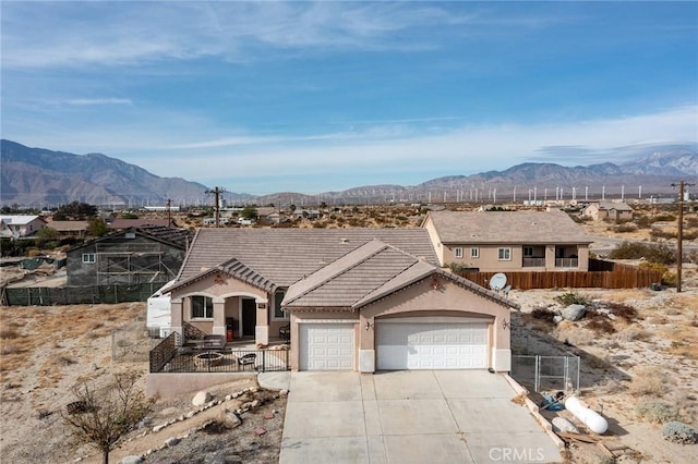
M113 232L68 251L68 285L165 284L174 279L190 233L171 228Z

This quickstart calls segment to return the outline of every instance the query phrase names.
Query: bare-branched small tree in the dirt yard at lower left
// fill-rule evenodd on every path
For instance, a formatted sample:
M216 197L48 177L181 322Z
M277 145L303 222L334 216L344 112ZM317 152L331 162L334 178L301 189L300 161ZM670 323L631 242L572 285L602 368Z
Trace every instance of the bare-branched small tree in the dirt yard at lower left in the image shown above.
M101 462L109 463L109 452L153 411L155 399L145 398L136 388L137 379L134 373L116 374L105 389L97 389L88 381L71 389L76 401L70 403L61 416L70 426L74 445L96 448L101 451Z

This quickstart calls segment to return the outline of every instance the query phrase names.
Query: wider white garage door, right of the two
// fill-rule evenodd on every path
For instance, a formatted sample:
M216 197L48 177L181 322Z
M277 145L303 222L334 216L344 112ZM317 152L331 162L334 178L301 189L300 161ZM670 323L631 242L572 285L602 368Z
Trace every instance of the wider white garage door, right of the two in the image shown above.
M488 323L383 321L376 331L380 370L488 367Z

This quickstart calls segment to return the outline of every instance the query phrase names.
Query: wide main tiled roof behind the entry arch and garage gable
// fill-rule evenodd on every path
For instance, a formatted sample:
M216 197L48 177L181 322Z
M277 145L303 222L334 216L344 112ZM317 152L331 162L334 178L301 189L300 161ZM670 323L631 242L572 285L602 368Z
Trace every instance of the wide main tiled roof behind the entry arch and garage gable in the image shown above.
M237 258L277 286L290 286L374 239L437 264L423 229L200 229L178 280Z

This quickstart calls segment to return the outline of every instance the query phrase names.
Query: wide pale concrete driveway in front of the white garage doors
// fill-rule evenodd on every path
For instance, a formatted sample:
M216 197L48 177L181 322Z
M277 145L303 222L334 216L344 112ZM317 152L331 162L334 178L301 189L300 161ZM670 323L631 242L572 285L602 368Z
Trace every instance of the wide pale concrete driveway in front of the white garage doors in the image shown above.
M562 462L503 376L292 373L281 464Z

